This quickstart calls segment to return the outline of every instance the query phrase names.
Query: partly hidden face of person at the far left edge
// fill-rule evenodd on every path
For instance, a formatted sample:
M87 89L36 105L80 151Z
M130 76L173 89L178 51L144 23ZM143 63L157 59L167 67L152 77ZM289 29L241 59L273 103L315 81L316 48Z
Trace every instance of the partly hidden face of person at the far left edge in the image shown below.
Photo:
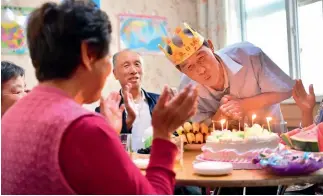
M1 114L5 113L16 101L26 95L26 84L22 76L11 78L2 84Z

